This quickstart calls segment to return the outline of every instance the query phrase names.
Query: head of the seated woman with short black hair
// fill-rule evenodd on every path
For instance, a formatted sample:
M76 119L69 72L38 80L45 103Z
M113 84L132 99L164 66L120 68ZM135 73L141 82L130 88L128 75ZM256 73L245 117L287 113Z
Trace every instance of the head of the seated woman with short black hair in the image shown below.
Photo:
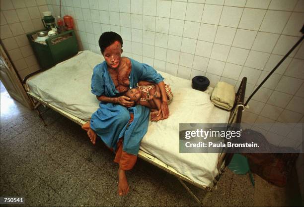
M100 36L98 43L107 65L111 68L117 68L123 52L121 36L115 32L104 32Z

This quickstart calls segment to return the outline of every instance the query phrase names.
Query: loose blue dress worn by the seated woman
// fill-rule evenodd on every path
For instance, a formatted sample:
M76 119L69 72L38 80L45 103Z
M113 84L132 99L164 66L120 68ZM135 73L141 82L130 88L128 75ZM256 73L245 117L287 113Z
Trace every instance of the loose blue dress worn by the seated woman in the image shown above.
M142 80L153 83L163 81L163 77L151 66L129 59L132 64L129 76L130 89L136 88L137 83ZM106 61L94 67L91 89L96 96L115 97L119 94L107 70ZM134 120L128 126L130 113L134 114ZM92 114L90 127L109 148L115 151L118 140L124 137L123 151L137 155L140 142L148 129L149 114L150 109L142 105L126 108L120 104L100 102L99 108Z

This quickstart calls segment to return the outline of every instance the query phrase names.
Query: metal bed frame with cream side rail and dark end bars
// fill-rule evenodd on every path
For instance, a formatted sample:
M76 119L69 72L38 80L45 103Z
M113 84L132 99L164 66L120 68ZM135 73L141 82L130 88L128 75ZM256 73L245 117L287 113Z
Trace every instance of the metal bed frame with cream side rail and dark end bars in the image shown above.
M26 76L23 80L23 84L25 89L27 89L26 86L26 80L34 74L37 74L41 71L36 71L33 74L29 74L28 76ZM245 90L246 90L246 82L247 82L247 78L243 77L240 86L236 92L236 97L235 97L235 101L233 104L233 107L231 109L231 113L229 115L229 119L228 119L228 125L230 124L234 124L234 123L241 123L241 117L242 117L242 111L244 110L244 97L245 97ZM39 110L39 105L43 105L45 107L51 108L57 112L59 112L60 114L62 114L63 116L69 118L70 120L74 121L75 123L77 123L78 125L82 126L83 124L85 124L87 121L84 121L66 111L64 111L63 109L56 107L52 104L49 104L47 102L45 102L44 100L42 100L41 98L37 97L35 94L29 92L27 90L27 94L30 97L31 102L34 105L34 109L37 111L38 116L40 117L40 119L42 120L44 126L47 126L42 115L44 112L46 112L46 110L44 111L40 111ZM166 163L162 162L161 160L157 159L156 157L154 157L153 155L150 155L142 150L139 151L138 156L148 162L150 162L151 164L159 167L162 170L165 170L166 172L174 175L179 182L183 185L183 187L188 191L188 193L190 194L190 196L200 205L204 204L206 202L206 198L208 197L208 194L210 194L212 192L213 189L215 189L217 187L217 182L219 181L221 175L224 172L225 167L229 164L233 154L226 154L226 153L222 153L219 157L218 160L218 171L219 174L215 177L213 183L210 186L204 186L204 185L200 185L198 183L195 183L194 181L190 180L189 178L187 178L186 176L182 175L180 172L178 172L177 170L173 169L172 167L170 167L169 165L167 165ZM206 190L206 193L203 197L202 200L200 200L193 192L192 190L187 186L187 184L184 182L186 181L187 183L190 183L202 190Z

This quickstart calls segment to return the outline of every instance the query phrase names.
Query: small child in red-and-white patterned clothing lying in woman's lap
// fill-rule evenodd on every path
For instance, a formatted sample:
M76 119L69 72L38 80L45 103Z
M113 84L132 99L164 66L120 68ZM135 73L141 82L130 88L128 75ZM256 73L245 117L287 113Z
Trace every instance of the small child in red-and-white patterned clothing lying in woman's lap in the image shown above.
M170 86L167 84L165 84L165 90L168 104L170 104L173 99L173 93ZM135 102L135 104L140 104L150 108L150 111L154 112L151 113L152 121L162 119L160 108L161 93L157 84L149 81L140 81L137 84L137 88L128 90L124 95L129 97L131 102Z

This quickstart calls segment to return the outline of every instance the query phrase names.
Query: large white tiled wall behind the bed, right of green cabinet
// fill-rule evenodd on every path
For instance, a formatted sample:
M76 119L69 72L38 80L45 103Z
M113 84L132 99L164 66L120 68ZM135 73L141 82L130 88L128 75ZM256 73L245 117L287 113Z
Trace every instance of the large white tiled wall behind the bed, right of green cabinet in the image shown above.
M57 16L59 0L47 0ZM124 40L124 55L214 86L238 87L248 97L299 40L304 0L63 0L76 20L84 50L100 53L102 32ZM244 122L304 122L304 46L293 52L250 101Z

